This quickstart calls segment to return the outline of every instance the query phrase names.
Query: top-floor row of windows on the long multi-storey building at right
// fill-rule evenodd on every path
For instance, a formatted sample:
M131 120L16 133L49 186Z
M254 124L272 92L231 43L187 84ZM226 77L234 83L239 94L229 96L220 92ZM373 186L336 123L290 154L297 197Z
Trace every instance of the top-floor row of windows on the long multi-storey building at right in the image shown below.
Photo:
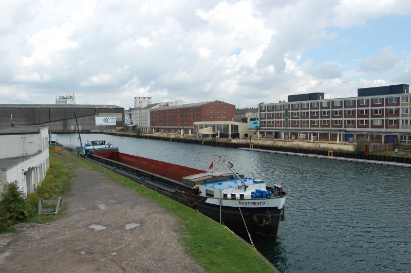
M375 98L375 99L371 99L373 104L382 104L382 99L383 98ZM370 99L358 99L359 104L360 105L367 105L368 101ZM408 96L406 97L401 97L401 102L408 102ZM342 100L335 100L332 101L332 105L335 107L339 107L342 105ZM398 97L389 97L388 98L388 103L397 103L398 102ZM323 101L321 102L321 106L322 107L329 107L329 101ZM354 105L354 100L345 100L346 105L352 106ZM308 108L309 104L311 104L311 107L318 107L319 106L319 102L303 102L301 103L301 108ZM300 105L300 103L291 103L291 108L292 109L298 109L298 105ZM285 104L286 108L288 107L288 104ZM276 104L275 105L275 110L281 110L282 108L282 104ZM268 105L268 110L273 110L274 109L274 105ZM260 106L260 110L266 110L266 105L262 105Z

